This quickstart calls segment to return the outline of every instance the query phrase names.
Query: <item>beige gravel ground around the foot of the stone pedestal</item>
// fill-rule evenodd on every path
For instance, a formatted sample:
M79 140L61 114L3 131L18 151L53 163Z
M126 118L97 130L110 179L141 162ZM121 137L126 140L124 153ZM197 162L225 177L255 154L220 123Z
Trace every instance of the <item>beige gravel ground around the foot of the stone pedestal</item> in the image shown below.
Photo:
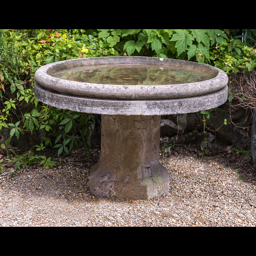
M248 155L198 153L186 146L161 153L169 194L128 202L90 194L90 167L99 148L90 157L73 150L53 159L53 168L34 166L13 177L14 168L6 166L0 175L0 226L256 226L256 171Z

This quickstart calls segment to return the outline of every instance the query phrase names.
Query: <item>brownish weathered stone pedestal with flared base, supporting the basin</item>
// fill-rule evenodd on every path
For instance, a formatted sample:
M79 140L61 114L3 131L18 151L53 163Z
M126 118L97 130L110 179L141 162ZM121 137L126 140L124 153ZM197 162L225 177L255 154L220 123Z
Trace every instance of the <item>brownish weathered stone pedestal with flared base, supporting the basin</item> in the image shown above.
M160 116L101 118L101 153L90 173L97 197L115 200L166 195L169 175L159 163Z

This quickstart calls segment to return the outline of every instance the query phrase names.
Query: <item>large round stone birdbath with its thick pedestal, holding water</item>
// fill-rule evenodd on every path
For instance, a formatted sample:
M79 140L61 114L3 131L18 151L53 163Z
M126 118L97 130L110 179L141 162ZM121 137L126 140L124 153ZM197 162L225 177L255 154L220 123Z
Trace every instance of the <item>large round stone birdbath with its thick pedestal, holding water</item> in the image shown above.
M227 75L191 61L95 57L59 61L35 72L35 97L50 106L101 114L101 152L90 190L114 200L169 191L159 163L161 115L208 110L227 99Z

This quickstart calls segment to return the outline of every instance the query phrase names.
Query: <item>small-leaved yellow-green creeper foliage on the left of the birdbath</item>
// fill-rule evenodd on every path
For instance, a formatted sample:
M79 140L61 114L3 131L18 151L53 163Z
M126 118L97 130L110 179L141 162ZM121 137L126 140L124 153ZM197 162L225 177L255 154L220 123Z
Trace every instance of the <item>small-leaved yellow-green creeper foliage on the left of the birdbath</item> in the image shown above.
M118 35L118 31L111 34ZM7 151L7 162L15 169L35 163L52 167L51 158L41 155L48 146L58 148L58 156L68 154L73 147L82 146L90 152L87 138L94 116L38 102L34 73L42 65L56 61L118 55L112 44L110 38L102 41L85 30L0 30L0 132L4 134L5 129L9 136L1 148ZM9 143L24 133L41 136L41 143L18 154ZM1 173L3 170L1 162Z

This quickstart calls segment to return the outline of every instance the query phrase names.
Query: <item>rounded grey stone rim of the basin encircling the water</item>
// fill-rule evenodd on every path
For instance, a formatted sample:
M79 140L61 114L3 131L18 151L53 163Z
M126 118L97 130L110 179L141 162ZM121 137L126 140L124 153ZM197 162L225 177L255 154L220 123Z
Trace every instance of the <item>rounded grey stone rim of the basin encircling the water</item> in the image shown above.
M170 66L191 69L196 72L200 70L205 74L211 73L215 77L192 83L135 86L77 82L52 76L56 72L67 69L102 64L152 64L156 67ZM91 57L58 61L38 68L35 72L35 80L44 89L55 91L56 93L86 98L117 100L178 99L203 96L223 90L228 82L225 72L210 65L192 61L140 56Z

